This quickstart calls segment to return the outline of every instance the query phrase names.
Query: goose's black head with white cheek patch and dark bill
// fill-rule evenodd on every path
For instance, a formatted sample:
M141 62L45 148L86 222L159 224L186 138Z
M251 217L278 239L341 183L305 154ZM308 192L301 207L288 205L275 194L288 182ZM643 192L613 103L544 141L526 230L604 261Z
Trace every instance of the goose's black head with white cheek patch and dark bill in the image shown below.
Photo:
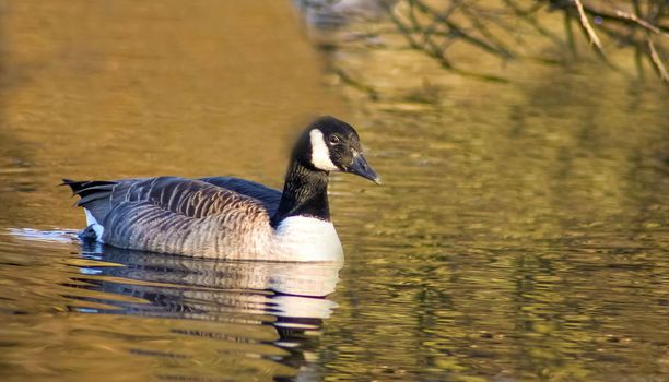
M334 117L320 117L312 122L293 155L312 169L354 174L380 184L379 176L363 156L355 129Z

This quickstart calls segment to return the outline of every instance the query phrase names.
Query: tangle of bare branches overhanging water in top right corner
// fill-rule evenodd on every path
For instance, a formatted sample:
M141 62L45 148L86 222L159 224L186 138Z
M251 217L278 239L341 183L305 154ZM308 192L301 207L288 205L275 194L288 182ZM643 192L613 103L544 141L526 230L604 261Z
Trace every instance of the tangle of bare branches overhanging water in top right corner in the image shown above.
M423 51L453 72L481 77L480 74L462 71L457 62L449 60L447 50L450 45L458 43L477 47L504 60L527 58L523 49L517 50L507 41L507 38L512 38L523 43L521 35L513 33L515 26L509 25L505 19L515 16L515 20L524 21L540 35L550 38L560 49L571 49L573 57L577 55L573 26L577 25L597 56L609 68L625 75L627 73L624 70L609 61L602 43L606 39L615 43L618 47L631 47L639 76L644 70L643 58L647 57L661 81L669 84L668 67L664 58L667 41L664 38L669 37L666 11L669 0L632 0L631 10L617 5L607 9L602 2L594 7L587 0L533 0L529 8L527 3L521 7L518 0L501 0L500 9L480 0L443 1L443 9L429 5L431 2L426 0L402 0L408 5L406 9L394 7L394 1L382 3L390 15L390 22L412 48ZM644 4L646 7L642 7ZM554 35L551 28L540 24L543 14L538 11L542 7L549 12L556 9L564 12L565 37Z

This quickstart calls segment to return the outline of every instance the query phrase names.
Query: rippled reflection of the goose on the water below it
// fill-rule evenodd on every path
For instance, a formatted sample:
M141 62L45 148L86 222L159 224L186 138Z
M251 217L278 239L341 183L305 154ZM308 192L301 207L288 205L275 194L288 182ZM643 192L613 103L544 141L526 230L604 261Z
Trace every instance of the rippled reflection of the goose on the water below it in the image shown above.
M214 332L227 333L234 326L235 334L224 339L239 346L248 344L248 338L257 339L259 331L270 330L275 334L260 343L281 349L283 356L277 357L272 351L269 356L257 356L269 357L295 372L300 370L300 374L313 372L305 363L318 347L318 336L314 334L337 307L326 296L334 291L342 266L341 263L208 261L94 243L83 244L81 256L84 263L77 264L80 275L74 277L75 284L81 285L72 286L103 294L93 298L74 293L70 297L81 305L78 302L71 309L178 319L178 327L173 327L172 333L208 339L215 335L211 325L203 330L201 323L215 322ZM128 299L99 297L111 296L108 294ZM101 308L105 306L109 308ZM238 353L248 355L247 349Z

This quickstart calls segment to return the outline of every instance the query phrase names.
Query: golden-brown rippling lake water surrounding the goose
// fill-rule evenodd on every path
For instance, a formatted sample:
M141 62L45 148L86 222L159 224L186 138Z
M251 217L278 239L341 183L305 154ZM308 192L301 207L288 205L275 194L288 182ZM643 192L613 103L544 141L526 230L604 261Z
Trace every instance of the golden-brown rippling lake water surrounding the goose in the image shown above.
M339 23L273 0L0 1L1 380L669 379L667 88L463 55L508 80L484 81ZM61 178L281 187L320 114L384 179L333 176L342 267L77 240Z

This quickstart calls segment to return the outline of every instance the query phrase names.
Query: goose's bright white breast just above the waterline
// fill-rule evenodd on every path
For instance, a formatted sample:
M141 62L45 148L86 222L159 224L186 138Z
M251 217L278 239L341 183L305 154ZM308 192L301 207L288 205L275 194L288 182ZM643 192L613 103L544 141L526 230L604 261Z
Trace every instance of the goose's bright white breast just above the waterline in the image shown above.
M275 247L283 261L343 261L343 250L331 222L291 216L277 227Z

